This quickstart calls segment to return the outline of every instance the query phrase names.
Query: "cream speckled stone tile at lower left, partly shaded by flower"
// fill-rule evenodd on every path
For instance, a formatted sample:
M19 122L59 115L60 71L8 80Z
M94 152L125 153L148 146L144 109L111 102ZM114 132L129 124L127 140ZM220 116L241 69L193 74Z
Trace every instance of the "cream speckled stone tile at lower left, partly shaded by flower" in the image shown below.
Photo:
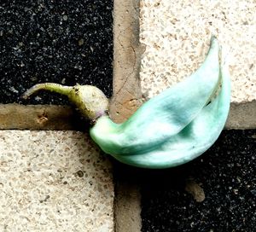
M75 131L0 131L1 231L113 231L112 168Z

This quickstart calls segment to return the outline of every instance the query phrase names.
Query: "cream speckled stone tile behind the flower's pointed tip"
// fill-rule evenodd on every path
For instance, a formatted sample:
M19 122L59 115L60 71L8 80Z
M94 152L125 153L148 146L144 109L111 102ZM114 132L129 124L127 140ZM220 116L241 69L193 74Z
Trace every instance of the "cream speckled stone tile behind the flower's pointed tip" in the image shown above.
M193 73L214 34L229 52L232 102L256 100L255 13L253 0L142 0L143 95L155 96Z

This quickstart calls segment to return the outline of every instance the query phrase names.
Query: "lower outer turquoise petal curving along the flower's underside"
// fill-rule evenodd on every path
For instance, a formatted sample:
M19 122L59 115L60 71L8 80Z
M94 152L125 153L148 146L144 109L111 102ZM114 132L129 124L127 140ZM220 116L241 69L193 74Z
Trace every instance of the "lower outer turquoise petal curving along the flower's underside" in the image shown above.
M222 88L218 96L177 135L144 153L113 154L113 157L125 164L160 169L182 165L203 154L218 139L230 110L227 68L222 67L220 73Z

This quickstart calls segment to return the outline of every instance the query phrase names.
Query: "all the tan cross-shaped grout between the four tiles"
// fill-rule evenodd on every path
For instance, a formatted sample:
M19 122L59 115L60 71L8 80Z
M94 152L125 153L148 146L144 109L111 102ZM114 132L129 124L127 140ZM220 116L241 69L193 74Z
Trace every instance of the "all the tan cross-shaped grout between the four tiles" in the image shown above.
M114 1L113 98L110 113L115 122L127 119L142 104L140 61L145 47L139 44L139 1ZM10 117L11 115L11 117ZM256 128L256 102L231 103L226 129ZM28 118L26 118L28 116ZM26 120L24 120L26 119ZM73 110L59 106L1 105L1 129L72 130ZM116 173L118 175L118 173ZM115 231L140 231L140 193L134 183L115 184ZM131 177L132 179L132 177Z

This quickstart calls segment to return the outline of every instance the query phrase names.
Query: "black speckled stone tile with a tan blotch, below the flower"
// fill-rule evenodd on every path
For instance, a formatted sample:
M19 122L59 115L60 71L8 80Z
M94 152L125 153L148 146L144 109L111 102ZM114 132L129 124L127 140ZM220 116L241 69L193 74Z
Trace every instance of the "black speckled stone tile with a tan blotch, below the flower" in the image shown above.
M142 175L143 231L256 231L256 131L224 131L199 159Z

